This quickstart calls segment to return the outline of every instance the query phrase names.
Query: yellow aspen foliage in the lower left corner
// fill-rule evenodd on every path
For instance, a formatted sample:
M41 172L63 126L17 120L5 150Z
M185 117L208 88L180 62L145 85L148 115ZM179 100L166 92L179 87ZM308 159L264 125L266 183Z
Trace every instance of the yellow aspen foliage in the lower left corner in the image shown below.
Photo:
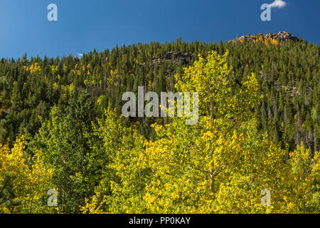
M0 149L0 182L4 172L11 174L16 197L21 199L21 212L48 212L43 197L53 188L50 184L52 169L46 169L41 154L37 151L31 159L25 154L25 138L16 140L14 147L4 146ZM1 205L0 205L1 206Z

